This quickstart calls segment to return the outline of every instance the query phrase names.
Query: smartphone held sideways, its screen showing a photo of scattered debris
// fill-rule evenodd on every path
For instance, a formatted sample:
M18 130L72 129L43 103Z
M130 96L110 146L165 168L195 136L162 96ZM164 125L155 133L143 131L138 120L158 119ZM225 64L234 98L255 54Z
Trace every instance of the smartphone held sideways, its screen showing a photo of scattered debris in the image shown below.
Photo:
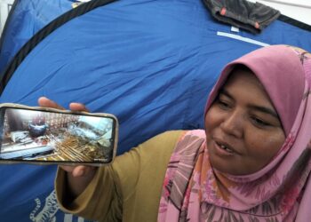
M112 163L115 115L0 104L0 163Z

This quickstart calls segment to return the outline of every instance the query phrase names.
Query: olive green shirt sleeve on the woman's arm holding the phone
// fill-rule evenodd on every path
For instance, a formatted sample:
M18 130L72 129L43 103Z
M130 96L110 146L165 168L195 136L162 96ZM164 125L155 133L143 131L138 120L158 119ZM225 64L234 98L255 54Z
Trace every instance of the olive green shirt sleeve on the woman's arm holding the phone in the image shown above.
M167 164L181 132L164 132L100 167L66 207L66 173L59 169L55 187L60 209L99 221L156 221Z

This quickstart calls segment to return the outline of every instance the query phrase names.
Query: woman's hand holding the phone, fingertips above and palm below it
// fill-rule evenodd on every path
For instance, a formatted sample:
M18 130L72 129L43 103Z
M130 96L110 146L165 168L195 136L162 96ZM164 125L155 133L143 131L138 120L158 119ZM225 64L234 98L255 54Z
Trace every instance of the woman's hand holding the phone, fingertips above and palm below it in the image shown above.
M58 105L56 102L45 97L39 98L38 104L40 107L65 109L64 107L60 107L60 105ZM81 103L70 103L69 107L72 111L88 112L87 108ZM68 192L70 193L70 197L68 198L71 200L76 198L76 196L84 191L85 187L88 186L88 184L91 182L97 170L97 167L84 165L60 165L60 168L67 171Z

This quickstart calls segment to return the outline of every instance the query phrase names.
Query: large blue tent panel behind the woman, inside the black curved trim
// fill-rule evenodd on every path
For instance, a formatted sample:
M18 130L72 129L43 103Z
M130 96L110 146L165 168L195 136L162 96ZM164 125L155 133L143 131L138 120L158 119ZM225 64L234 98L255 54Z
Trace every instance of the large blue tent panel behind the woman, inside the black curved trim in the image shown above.
M204 102L221 67L263 44L311 51L311 32L280 20L259 35L233 32L215 22L201 0L116 1L46 36L17 67L0 102L36 106L46 96L64 107L78 101L92 112L112 113L120 123L120 155L163 131L203 128ZM57 209L55 166L0 165L0 172L0 202L9 200L1 221L82 220ZM54 202L52 213L47 202Z

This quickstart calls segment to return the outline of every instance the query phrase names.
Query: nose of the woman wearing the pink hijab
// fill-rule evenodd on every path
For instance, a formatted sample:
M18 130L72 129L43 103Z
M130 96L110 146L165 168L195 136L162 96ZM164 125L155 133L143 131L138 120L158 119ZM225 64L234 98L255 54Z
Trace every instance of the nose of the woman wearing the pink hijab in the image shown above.
M220 129L225 133L241 138L243 136L243 114L239 111L232 111L224 116Z

